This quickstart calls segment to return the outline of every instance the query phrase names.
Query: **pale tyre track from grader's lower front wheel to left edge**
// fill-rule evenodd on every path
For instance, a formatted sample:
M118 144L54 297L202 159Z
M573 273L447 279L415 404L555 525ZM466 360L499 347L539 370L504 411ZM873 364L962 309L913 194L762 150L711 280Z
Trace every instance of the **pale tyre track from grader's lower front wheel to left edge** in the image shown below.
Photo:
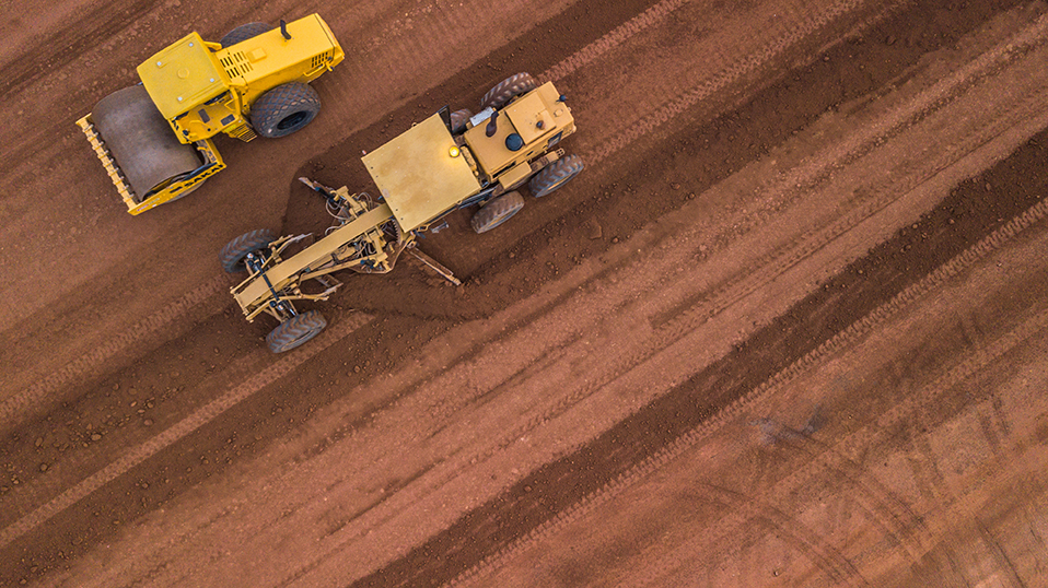
M224 282L224 280L223 280ZM102 470L86 478L75 486L63 492L44 506L33 513L22 517L16 522L0 531L0 549L8 546L19 537L31 531L45 520L69 508L80 502L85 496L101 489L105 484L116 480L127 473L131 468L142 463L150 457L166 449L177 443L194 431L211 422L216 416L233 408L238 402L269 386L273 381L282 378L289 372L313 358L327 348L337 343L349 333L370 322L373 317L364 314L352 314L328 328L316 338L315 342L303 346L300 350L283 355L279 361L271 364L266 369L241 384L240 386L226 391L222 397L201 407L189 416L183 419L172 427L167 428L152 439L135 447L130 452L121 456L116 461L109 463Z

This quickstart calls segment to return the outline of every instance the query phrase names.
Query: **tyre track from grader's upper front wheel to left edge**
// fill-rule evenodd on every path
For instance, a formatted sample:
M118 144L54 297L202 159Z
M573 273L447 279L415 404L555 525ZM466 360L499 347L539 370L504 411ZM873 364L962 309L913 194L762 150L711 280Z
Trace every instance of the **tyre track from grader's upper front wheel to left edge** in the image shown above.
M193 307L228 287L229 279L224 275L209 280L196 290L187 292L175 302L164 306L160 311L142 319L130 329L108 339L102 345L91 350L91 352L66 364L61 369L34 383L22 392L4 399L2 403L0 403L0 426L16 424L27 407L39 403L62 386L82 379L95 365L119 355L124 350L130 346L137 345L150 334L188 313Z

